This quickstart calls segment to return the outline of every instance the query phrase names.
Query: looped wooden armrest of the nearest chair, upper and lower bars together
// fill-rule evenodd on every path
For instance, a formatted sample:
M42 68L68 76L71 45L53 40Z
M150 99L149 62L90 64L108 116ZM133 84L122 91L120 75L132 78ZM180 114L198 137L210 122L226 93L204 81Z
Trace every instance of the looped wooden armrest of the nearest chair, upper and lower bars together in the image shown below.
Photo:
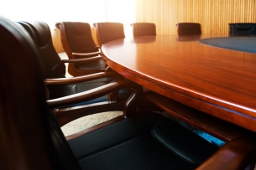
M55 114L56 119L58 120L60 126L63 126L70 121L74 121L79 117L88 116L91 114L105 112L105 111L123 111L124 117L133 116L133 114L137 113L136 111L137 101L141 99L141 95L143 95L143 89L140 85L137 85L132 81L123 80L123 81L115 82L109 85L105 85L105 86L102 86L101 88L97 88L94 90L87 91L83 94L79 94L79 97L81 97L81 100L84 101L84 100L88 100L90 97L95 98L97 97L97 95L104 95L109 92L107 90L110 90L110 91L120 90L123 88L133 89L133 93L131 93L131 95L128 97L127 100L120 100L118 102L103 101L98 103L86 104L82 106L67 106L67 107L61 107L61 108L53 108L52 111ZM72 97L74 96L68 96L68 99L64 99L64 101L69 100L69 98L72 98ZM63 98L59 100L60 102L59 104L61 106L66 106L66 105L63 105L63 102L61 100L63 100ZM51 105L53 104L52 101L53 100L48 100L47 103L50 106L54 107L53 105Z

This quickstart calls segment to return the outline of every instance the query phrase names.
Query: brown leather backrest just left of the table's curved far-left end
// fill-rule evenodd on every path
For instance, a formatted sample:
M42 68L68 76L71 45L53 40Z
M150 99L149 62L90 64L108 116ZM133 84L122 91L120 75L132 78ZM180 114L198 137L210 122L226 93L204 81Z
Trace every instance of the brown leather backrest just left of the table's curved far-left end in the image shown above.
M55 24L60 29L61 43L69 59L76 59L72 53L97 52L96 44L92 39L89 23L60 22Z

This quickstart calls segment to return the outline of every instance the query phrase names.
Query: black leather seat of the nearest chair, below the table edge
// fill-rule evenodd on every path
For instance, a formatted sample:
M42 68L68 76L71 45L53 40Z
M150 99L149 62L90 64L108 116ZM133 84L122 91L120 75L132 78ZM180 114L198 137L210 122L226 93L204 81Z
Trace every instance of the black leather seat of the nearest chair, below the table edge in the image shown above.
M157 113L69 141L82 169L194 169L217 147Z

